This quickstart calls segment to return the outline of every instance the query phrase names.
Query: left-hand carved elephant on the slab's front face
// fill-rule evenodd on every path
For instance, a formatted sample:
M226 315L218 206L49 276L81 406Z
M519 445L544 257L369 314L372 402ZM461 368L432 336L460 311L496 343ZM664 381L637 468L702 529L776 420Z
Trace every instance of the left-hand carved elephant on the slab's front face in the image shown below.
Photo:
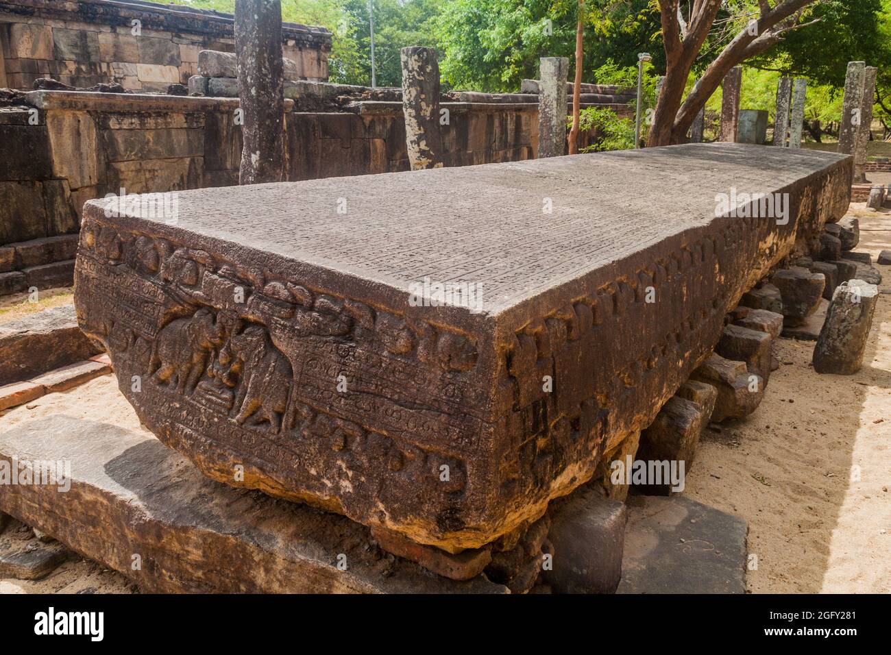
M158 332L151 349L149 375L155 381L176 384L192 393L208 365L208 356L223 343L223 326L214 323L208 309L191 318L177 318Z

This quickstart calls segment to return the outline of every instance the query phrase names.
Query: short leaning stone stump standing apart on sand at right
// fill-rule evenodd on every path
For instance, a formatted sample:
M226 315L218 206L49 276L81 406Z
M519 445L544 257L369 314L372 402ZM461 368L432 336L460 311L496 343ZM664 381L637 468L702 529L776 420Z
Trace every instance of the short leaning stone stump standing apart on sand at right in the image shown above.
M814 371L853 375L860 370L878 299L875 284L855 279L839 285L813 348Z

